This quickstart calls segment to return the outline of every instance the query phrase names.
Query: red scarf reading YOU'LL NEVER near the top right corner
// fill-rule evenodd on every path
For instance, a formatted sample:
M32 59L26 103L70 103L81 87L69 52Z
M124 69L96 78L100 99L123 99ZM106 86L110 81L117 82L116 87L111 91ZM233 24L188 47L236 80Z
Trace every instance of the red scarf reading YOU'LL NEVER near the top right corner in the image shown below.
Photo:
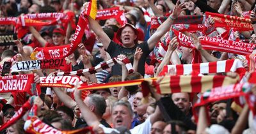
M214 27L234 27L239 31L251 31L253 30L251 20L243 17L235 17L230 15L223 15L219 13L205 12L207 17L211 15L214 19Z

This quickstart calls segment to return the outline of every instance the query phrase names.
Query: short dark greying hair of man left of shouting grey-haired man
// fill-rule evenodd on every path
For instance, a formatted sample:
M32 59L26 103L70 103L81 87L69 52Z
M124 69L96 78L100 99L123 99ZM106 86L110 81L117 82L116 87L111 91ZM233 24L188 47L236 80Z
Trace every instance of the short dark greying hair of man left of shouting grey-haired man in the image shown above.
M106 112L106 107L107 107L107 104L104 98L99 94L90 94L87 97L89 97L90 105L95 106L95 113L97 115L100 115L100 117L102 117L102 115Z

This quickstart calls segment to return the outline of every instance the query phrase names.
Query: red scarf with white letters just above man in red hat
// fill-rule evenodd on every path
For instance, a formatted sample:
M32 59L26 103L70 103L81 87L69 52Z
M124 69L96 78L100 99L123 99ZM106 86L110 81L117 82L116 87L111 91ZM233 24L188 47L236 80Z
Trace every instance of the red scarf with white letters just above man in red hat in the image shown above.
M127 20L124 16L124 11L120 10L119 7L108 8L108 9L97 11L97 17L96 17L97 20L107 20L111 18L115 18L116 21L121 26L127 23Z

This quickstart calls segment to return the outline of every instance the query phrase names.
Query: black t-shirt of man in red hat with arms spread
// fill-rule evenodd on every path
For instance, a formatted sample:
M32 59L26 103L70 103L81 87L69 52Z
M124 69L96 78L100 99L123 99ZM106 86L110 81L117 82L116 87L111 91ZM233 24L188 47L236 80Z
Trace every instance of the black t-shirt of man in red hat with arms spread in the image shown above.
M151 50L148 48L148 43L147 41L144 41L143 43L136 44L132 48L124 48L121 45L118 45L117 43L111 41L108 46L108 50L106 50L111 58L117 57L120 54L124 54L127 56L131 63L133 64L133 57L134 53L136 51L136 47L140 47L143 51L143 55L141 56L139 65L138 65L138 72L141 73L142 76L145 74L145 61L150 54ZM122 75L122 67L119 64L115 64L112 66L112 75Z

